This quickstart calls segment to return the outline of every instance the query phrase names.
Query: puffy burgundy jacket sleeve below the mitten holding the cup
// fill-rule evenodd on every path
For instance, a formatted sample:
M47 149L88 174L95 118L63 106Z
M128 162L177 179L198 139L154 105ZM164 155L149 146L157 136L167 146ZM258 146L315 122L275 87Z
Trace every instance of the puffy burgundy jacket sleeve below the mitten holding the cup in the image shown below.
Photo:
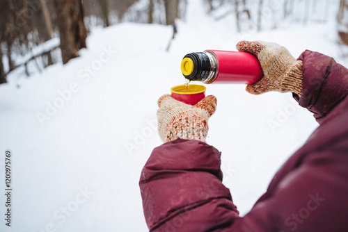
M221 153L198 140L177 139L152 151L140 179L150 231L214 231L238 217L222 183Z

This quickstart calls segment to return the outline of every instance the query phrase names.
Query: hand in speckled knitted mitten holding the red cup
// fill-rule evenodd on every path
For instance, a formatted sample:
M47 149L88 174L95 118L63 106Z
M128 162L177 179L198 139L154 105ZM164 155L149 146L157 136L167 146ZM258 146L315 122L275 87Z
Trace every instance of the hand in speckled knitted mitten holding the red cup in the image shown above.
M216 110L216 97L209 95L191 106L165 94L159 98L158 106L158 131L163 142L177 138L205 142L208 119Z

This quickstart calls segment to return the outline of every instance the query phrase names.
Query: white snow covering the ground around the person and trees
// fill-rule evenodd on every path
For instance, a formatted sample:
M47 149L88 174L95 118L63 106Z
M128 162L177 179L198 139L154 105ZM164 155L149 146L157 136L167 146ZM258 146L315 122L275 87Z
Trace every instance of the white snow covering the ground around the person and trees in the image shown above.
M310 49L347 65L337 42L338 7L331 9L327 22L237 33L231 17L214 21L200 1L191 0L168 52L171 26L122 23L95 28L88 49L67 65L30 78L12 72L0 85L0 173L10 149L13 231L148 231L139 177L161 144L157 99L184 83L182 57L265 40L282 44L295 58ZM245 215L318 124L290 93L254 96L244 85L206 86L218 99L207 142L222 151L223 183ZM5 201L1 194L1 215ZM0 231L10 231L4 221Z

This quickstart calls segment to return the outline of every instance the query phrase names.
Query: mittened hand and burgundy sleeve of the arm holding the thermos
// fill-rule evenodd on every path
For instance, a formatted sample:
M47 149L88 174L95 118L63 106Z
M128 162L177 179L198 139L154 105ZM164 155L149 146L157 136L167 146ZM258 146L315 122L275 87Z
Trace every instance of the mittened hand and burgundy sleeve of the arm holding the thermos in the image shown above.
M246 91L292 92L319 124L348 94L348 69L322 53L306 50L295 60L285 47L263 41L241 41L237 49L256 56L264 72L260 81L246 86Z

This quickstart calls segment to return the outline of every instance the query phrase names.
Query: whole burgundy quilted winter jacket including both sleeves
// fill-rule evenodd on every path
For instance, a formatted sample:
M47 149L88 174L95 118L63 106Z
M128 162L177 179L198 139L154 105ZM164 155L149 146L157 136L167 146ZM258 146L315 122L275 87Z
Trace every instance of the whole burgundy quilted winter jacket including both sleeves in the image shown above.
M320 126L251 211L239 217L221 183L221 152L178 139L155 148L141 173L150 231L348 231L348 69L313 51L299 60L303 95L294 98Z

